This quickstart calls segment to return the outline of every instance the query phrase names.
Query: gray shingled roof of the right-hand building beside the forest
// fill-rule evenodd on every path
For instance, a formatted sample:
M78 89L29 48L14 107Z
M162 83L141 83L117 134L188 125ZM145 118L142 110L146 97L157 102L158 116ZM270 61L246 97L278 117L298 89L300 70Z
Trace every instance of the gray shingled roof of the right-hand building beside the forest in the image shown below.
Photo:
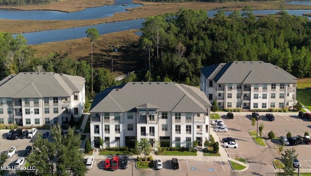
M287 71L262 61L234 61L221 63L219 71L215 66L207 66L201 69L206 78L213 79L218 84L272 84L272 83L296 83L297 78ZM209 69L210 68L210 69ZM212 72L210 70L213 70ZM215 76L212 76L215 75Z

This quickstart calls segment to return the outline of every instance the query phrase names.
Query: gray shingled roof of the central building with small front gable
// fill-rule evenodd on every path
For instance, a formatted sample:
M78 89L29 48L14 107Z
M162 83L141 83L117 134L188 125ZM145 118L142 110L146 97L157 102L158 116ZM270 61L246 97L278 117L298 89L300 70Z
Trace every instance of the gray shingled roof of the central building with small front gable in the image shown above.
M173 82L129 82L96 94L90 112L128 112L141 106L205 113L211 104L199 88Z

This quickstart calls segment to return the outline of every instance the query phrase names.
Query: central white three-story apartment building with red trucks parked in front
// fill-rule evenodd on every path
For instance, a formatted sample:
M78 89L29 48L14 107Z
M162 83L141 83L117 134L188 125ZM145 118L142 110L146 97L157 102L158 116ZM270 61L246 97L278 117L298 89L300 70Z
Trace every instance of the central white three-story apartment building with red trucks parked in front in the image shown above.
M204 92L173 82L129 82L95 95L90 108L90 141L100 147L134 147L149 139L153 147L199 146L209 139L211 104Z

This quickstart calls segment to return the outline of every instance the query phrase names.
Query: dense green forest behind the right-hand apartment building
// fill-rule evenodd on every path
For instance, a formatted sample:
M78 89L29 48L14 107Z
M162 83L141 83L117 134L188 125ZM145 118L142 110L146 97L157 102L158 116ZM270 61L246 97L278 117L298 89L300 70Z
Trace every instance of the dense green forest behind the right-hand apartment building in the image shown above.
M205 10L149 17L139 39L153 80L199 85L200 68L222 62L264 61L297 78L311 77L311 23L281 10L276 18L256 18L250 6L228 17L224 10L207 17ZM146 68L149 70L149 67ZM187 81L188 79L188 81Z

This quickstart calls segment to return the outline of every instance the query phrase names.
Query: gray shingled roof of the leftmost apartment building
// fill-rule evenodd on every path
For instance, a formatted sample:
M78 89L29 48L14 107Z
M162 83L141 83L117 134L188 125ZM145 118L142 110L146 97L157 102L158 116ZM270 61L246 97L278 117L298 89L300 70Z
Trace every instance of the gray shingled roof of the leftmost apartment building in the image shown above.
M69 97L82 90L85 78L52 72L20 72L0 81L0 97Z

